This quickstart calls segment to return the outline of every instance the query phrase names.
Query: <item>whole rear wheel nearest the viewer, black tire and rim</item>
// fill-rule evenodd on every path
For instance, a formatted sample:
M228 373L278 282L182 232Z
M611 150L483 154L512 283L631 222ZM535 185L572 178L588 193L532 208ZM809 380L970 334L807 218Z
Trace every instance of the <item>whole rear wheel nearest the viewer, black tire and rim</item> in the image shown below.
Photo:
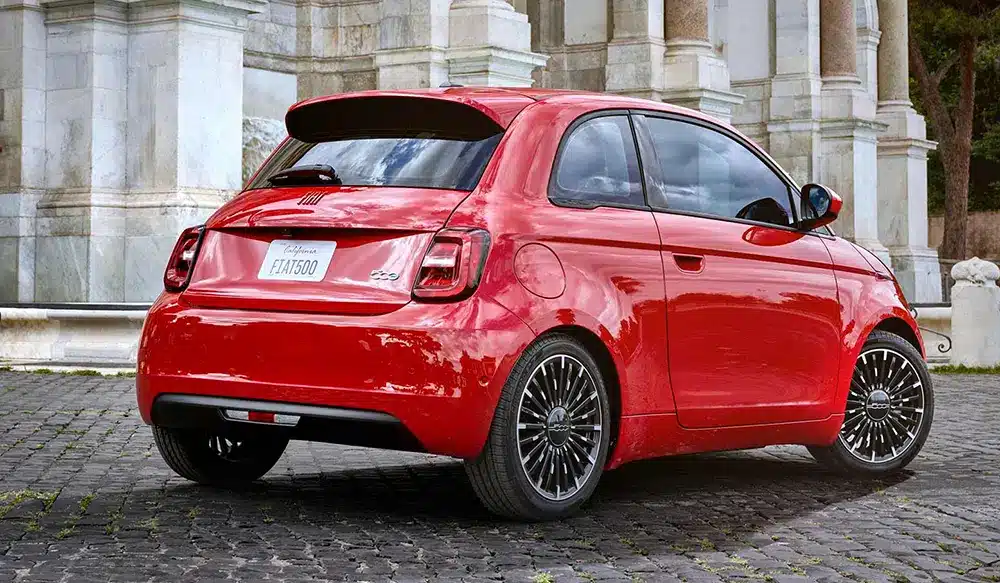
M568 372L564 373L567 367ZM585 371L576 373L579 368ZM543 377L538 378L549 380L548 376L544 376L548 370L553 371L551 379L556 379L558 374L564 376L561 383L557 380L553 382L552 392L546 389L545 395L539 394L536 398L528 389L540 370ZM577 375L576 385L570 379L574 375ZM560 390L560 386L565 389ZM540 391L537 384L531 384L531 388ZM586 394L574 397L574 390L577 394ZM546 421L536 424L544 428L524 427L523 421L534 415L528 410L537 408L544 412L542 400L553 396L555 398L550 403L552 407ZM580 410L581 405L591 401L596 401L594 413L591 414L590 405L585 406L585 411ZM558 409L562 409L562 413ZM553 520L568 516L585 503L597 487L608 456L612 426L607 390L594 358L571 336L543 336L529 346L514 365L494 412L486 446L478 458L465 464L472 488L483 505L500 516L523 520ZM593 430L590 437L585 435L591 431L586 428L597 427L600 429ZM519 439L521 431L525 434L538 433ZM525 441L536 445L522 445ZM539 457L533 457L530 451L525 453L527 465L537 467L537 463L541 464L539 472L546 472L545 460L550 461L547 473L539 474L548 477L541 478L537 487L533 479L529 480L531 470L522 464L522 447L525 450L541 447L551 453L548 458L544 457L549 455L546 451L536 454ZM596 452L588 448L596 448ZM590 455L587 455L588 452ZM537 461L532 463L532 459ZM574 475L582 477L582 480L575 480ZM559 484L566 485L567 489L560 490ZM556 487L554 496L551 492L553 485ZM543 494L542 491L546 490L548 492Z

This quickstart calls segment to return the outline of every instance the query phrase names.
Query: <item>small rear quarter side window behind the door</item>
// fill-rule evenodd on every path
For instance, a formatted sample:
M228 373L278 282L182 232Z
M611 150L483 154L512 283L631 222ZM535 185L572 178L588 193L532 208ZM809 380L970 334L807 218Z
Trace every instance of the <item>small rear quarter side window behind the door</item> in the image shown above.
M587 120L571 130L549 185L554 201L645 206L628 116Z

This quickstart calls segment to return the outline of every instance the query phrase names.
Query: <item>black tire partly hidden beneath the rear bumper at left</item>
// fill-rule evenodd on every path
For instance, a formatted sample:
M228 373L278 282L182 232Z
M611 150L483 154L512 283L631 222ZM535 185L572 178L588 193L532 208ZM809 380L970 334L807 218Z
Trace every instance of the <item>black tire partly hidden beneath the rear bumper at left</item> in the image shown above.
M260 478L288 445L288 439L266 434L232 441L196 429L158 426L153 426L153 440L163 461L179 476L222 487L243 486ZM226 448L228 453L222 453Z

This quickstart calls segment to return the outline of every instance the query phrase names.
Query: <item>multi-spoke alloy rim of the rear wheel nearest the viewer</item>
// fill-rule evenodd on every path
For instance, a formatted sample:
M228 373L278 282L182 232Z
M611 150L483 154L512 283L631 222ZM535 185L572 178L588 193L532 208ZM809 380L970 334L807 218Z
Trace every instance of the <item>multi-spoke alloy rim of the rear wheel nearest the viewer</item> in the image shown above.
M579 360L550 356L521 391L517 416L521 468L548 500L566 500L583 487L600 458L606 413L597 384Z

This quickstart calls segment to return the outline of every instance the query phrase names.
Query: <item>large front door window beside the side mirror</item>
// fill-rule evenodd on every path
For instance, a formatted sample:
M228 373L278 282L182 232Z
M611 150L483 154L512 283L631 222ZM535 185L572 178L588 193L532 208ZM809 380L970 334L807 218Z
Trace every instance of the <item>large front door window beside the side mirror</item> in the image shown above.
M790 189L745 146L700 125L645 119L660 166L650 177L653 208L792 224Z

